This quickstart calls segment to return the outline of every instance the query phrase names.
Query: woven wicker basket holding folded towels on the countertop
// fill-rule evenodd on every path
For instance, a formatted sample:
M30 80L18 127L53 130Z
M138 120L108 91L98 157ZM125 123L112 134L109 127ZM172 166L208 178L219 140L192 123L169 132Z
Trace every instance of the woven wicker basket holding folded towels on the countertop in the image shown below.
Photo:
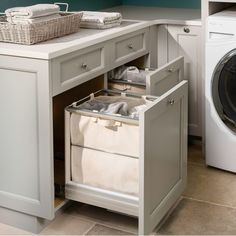
M79 30L82 12L61 13L60 18L32 24L12 24L0 17L0 41L31 45Z

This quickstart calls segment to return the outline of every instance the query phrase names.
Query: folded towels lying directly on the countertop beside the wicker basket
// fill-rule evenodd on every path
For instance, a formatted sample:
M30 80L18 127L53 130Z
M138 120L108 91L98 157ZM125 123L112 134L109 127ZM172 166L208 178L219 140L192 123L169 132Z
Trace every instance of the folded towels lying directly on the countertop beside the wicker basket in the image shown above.
M119 26L122 15L119 12L83 11L80 26L91 29L108 29Z

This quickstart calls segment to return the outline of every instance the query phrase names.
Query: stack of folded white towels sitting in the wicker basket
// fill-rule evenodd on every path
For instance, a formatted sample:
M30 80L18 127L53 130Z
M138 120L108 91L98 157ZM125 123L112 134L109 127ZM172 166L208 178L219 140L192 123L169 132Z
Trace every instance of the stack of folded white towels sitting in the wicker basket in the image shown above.
M36 4L28 7L14 7L5 11L7 21L14 24L32 24L57 19L60 7L55 4Z

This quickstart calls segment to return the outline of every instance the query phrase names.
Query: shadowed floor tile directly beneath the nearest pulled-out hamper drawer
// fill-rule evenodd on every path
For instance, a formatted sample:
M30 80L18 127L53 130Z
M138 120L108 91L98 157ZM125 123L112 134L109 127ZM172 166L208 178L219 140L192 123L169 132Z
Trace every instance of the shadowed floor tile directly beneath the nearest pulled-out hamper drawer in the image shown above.
M91 205L73 204L66 211L66 214L80 217L82 219L95 221L110 227L128 231L136 234L138 232L138 219L122 214L117 214L106 209Z

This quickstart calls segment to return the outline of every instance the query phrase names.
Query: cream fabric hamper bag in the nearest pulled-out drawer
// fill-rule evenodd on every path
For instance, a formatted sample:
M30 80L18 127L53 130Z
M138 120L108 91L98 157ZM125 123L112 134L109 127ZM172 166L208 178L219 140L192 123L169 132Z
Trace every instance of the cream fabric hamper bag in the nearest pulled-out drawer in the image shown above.
M134 96L138 102L132 100L132 104L140 105L143 97ZM148 99L144 101L152 102ZM66 112L70 113L66 126L70 130L71 181L138 196L138 120L84 110L81 109L81 103L73 103Z

